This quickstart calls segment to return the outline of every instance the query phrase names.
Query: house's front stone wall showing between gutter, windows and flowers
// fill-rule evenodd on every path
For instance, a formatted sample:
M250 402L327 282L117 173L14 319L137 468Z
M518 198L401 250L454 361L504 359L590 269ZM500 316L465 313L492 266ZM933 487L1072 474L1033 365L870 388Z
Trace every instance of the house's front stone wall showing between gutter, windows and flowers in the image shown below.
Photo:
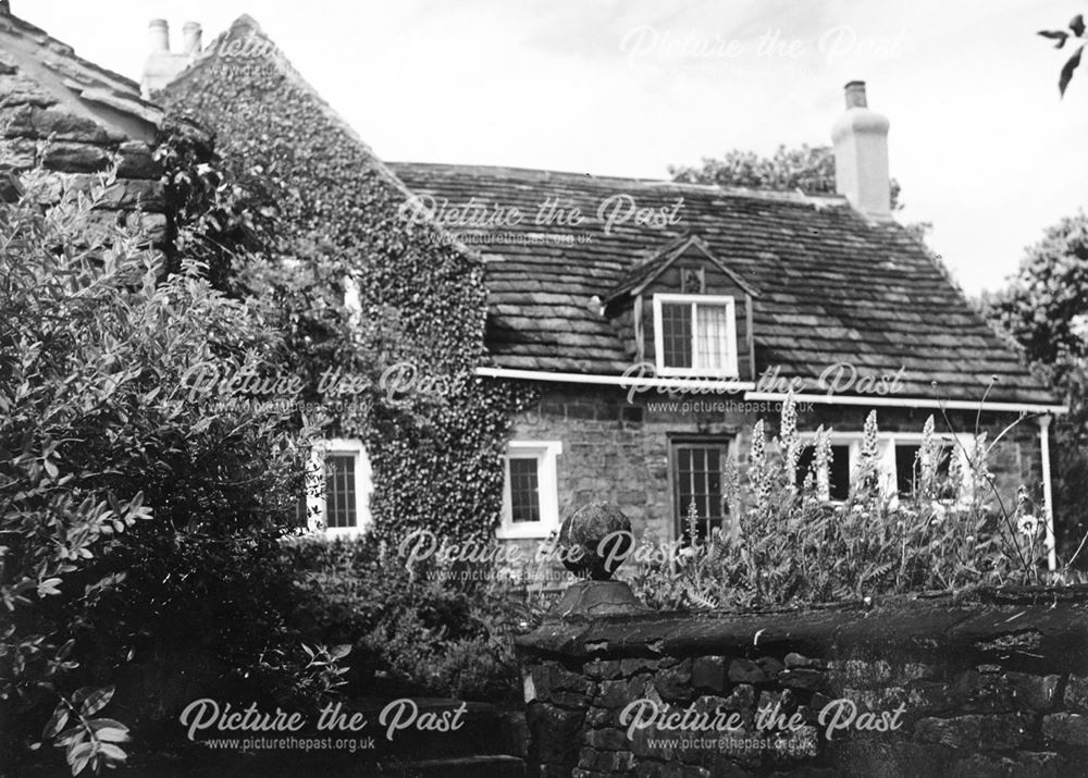
M734 437L742 459L751 444L751 430L758 418L768 423L768 435L776 434L780 405L744 403L740 395L682 396L691 405L663 410L658 403L670 397L651 391L629 403L620 388L545 384L540 403L515 423L512 440L558 440L562 454L558 460L559 516L574 507L604 499L630 517L634 533L651 542L675 539L669 437L706 434ZM698 404L703 404L700 409ZM728 404L728 405L727 405ZM839 432L860 432L867 408L814 405L799 416L801 430L818 425ZM947 430L939 411L928 409L881 408L877 418L881 431L922 432L926 418L936 417L938 431ZM957 431L973 432L974 413L950 413ZM980 428L990 440L1014 417L985 415ZM1037 492L1041 482L1038 427L1024 420L1002 439L990 457L993 473L1006 505L1024 484Z

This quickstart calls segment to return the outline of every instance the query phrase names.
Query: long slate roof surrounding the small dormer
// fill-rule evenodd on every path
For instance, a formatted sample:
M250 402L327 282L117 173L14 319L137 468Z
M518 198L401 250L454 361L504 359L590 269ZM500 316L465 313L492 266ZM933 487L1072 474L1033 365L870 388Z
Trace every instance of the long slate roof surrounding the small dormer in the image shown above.
M782 376L814 385L829 366L849 362L864 374L905 368L900 398L977 402L997 376L990 402L1059 402L901 225L870 221L841 197L510 168L390 166L412 192L434 198L440 221L444 205L470 201L522 214L520 223L497 226L445 220L486 260L487 346L499 367L621 374L631 335L604 317L602 301L630 285L640 263L690 234L759 291L761 373L777 366ZM606 229L601 203L625 195L655 213L682 198L680 218L655 226L635 224L632 214ZM548 198L580 208L582 223L536 223Z

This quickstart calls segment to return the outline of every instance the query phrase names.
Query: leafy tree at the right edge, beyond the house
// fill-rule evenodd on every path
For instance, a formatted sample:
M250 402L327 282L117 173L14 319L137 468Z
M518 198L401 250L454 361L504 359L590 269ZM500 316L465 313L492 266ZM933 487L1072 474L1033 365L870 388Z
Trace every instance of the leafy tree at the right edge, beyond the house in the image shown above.
M1070 405L1054 423L1053 481L1058 545L1072 551L1088 534L1088 214L1048 229L984 308Z

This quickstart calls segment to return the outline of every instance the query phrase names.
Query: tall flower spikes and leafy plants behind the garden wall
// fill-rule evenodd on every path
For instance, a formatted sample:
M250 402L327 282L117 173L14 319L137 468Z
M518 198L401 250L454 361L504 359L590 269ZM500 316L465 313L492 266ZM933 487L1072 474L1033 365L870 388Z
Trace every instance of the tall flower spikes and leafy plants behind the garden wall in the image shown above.
M985 435L964 452L966 468L953 458L942 476L930 417L915 492L888 495L878 478L873 412L850 496L837 505L818 474L832 457L829 431L818 430L814 464L798 482L795 422L791 399L770 444L763 421L756 423L746 472L730 464L724 479L729 524L663 565L640 568L632 583L644 602L753 608L1042 579L1043 520L1024 491L1015 506L1002 503L986 468L993 444ZM697 517L690 520L694 524Z

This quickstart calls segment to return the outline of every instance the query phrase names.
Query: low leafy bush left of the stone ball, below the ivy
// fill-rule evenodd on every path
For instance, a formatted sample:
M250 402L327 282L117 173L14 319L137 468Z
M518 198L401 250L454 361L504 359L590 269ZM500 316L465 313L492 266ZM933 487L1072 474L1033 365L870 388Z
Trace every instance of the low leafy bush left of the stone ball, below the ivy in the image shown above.
M517 590L412 575L369 536L306 536L286 543L284 553L302 593L294 616L302 634L355 646L346 676L351 691L470 700L517 694L512 637L540 615L530 614Z

